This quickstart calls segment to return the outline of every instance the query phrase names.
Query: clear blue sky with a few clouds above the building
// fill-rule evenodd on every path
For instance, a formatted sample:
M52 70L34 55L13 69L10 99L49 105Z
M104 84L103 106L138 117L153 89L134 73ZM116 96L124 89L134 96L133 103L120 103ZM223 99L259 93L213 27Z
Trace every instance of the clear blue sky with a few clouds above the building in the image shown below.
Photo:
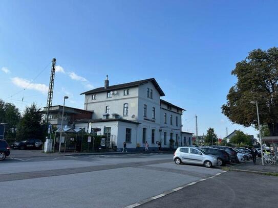
M256 135L231 124L221 106L237 81L235 64L251 50L277 47L277 8L254 0L4 0L0 99L20 110L45 106L55 57L53 105L68 95L66 105L83 108L79 94L103 86L106 74L111 85L155 77L163 99L187 110L183 130L195 132L197 114L199 135L209 127L221 137L226 127Z

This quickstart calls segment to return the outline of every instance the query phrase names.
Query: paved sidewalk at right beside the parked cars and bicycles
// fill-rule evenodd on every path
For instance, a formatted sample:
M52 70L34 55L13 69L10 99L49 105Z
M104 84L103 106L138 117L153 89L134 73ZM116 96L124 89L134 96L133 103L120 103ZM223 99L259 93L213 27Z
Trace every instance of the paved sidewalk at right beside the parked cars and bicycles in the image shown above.
M242 163L230 168L233 171L242 171L242 172L253 172L260 174L269 174L277 173L278 174L278 165L264 165L262 166L261 158L256 160L256 165L253 164L253 160L250 160L246 163Z

